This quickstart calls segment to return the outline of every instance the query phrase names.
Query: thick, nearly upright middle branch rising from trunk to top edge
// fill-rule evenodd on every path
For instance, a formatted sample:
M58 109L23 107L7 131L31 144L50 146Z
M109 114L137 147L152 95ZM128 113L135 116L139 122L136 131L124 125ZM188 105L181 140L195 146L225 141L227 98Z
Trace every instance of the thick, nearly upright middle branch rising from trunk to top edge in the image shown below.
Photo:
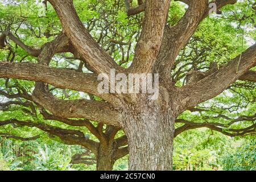
M170 0L146 1L142 32L135 48L131 71L151 73L163 39Z

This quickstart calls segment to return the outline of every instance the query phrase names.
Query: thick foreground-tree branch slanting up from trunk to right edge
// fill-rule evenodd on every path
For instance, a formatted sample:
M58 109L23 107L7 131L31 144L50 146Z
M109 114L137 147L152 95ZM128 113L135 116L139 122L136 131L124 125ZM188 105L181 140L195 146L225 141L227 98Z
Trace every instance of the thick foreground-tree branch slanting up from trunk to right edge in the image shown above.
M237 56L224 67L197 82L197 84L177 88L181 98L180 109L188 109L217 96L255 65L256 44L243 52L241 59L240 55Z

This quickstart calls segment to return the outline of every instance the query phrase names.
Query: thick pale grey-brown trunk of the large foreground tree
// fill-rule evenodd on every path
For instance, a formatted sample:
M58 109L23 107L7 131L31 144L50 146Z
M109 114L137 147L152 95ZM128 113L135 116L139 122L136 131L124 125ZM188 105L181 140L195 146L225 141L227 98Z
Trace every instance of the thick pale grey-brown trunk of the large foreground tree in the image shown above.
M130 119L125 128L129 169L172 170L175 119L172 111L147 108L142 113Z

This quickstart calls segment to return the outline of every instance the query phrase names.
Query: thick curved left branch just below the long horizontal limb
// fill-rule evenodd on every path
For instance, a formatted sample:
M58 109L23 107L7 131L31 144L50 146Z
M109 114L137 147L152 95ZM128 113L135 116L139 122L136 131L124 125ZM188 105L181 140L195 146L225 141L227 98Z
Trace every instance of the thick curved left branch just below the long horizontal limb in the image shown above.
M86 118L108 125L119 126L121 115L104 101L58 100L42 83L36 83L32 98L39 105L61 118Z

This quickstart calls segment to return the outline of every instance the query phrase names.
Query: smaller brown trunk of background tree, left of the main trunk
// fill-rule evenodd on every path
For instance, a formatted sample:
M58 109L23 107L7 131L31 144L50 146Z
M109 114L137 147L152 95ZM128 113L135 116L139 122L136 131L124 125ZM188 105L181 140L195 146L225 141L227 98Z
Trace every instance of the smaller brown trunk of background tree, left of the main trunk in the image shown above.
M115 160L113 158L113 143L100 143L97 155L97 171L112 171L114 163Z

